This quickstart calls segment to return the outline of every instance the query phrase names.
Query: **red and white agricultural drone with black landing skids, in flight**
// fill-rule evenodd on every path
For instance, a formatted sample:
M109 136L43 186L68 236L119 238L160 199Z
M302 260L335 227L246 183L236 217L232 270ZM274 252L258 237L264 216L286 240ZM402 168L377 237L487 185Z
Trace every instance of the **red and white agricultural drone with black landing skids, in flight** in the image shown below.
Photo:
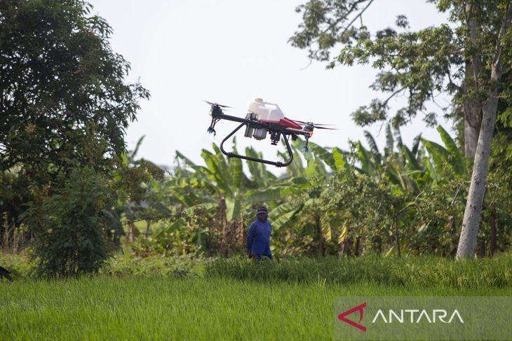
M236 127L229 135L227 135L227 137L225 137L220 144L220 150L228 158L240 158L243 160L261 162L267 165L274 165L276 167L287 167L293 161L292 148L290 147L290 143L288 141L290 137L292 138L292 141L295 141L299 135L302 135L306 140L306 144L304 148L302 148L302 151L307 153L309 151L308 141L313 135L313 131L315 129L336 130L335 128L323 127L325 125L322 124L303 122L300 120L290 120L290 118L285 118L283 112L277 104L263 102L263 99L261 98L255 98L249 102L249 113L245 116L245 118L226 115L223 109L231 108L231 106L225 106L208 101L204 102L210 104L210 116L212 116L212 122L210 123L210 127L208 127L208 133L213 133L214 135L216 134L215 125L220 120L231 120L240 123L240 125L238 125L238 127ZM245 155L239 155L232 152L226 152L224 150L224 142L244 126L245 137L252 137L253 139L263 140L269 136L271 144L274 146L276 146L281 137L283 137L286 149L288 151L288 160L285 160L285 162L270 161L260 158L252 158Z

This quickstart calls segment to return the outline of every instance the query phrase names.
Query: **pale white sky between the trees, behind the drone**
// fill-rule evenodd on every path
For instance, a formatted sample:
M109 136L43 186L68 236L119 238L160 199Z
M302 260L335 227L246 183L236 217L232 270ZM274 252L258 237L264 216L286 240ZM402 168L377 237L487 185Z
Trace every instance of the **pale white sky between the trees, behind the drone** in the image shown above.
M238 125L220 121L217 136L207 134L210 108L203 99L233 106L227 113L245 117L248 100L262 97L279 104L288 118L336 125L339 130L316 130L311 139L316 144L346 149L348 139L365 141L363 131L369 130L379 149L384 148L380 124L358 127L350 116L370 99L386 97L368 88L376 71L369 66L325 70L321 62L304 69L309 63L306 50L288 43L301 20L295 7L306 0L89 2L93 13L114 29L112 48L132 66L128 80L140 77L151 92L151 99L141 102L126 138L132 149L146 135L140 158L173 165L178 150L202 163L201 149L211 150L213 142L220 144ZM446 21L445 15L424 0L377 0L364 13L363 23L375 33L393 25L400 14L407 15L412 30ZM447 99L440 98L440 104L447 104ZM451 123L442 118L440 109L436 111L438 122L451 132ZM418 117L402 128L404 143L410 146L420 132L426 139L440 141L438 132L427 129ZM238 131L237 142L238 151L254 146L271 160L277 160L276 148L284 148L271 146L269 139L245 138L243 129ZM272 166L269 170L281 172Z

